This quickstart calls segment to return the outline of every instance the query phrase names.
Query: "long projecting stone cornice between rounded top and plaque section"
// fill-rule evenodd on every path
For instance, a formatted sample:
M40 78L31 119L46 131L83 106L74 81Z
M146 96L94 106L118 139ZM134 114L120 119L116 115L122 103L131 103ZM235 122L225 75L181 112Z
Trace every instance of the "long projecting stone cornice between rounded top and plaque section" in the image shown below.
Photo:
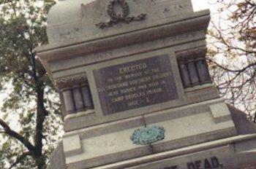
M101 52L104 50L128 46L130 44L154 41L155 39L161 39L162 37L167 36L176 36L189 31L206 30L209 20L210 15L208 15L208 12L204 12L187 20L177 20L172 23L132 31L118 36L109 36L105 39L94 39L89 42L80 42L72 44L71 46L67 45L63 47L48 45L40 48L38 55L41 60L45 60L46 62L74 58L80 55L89 55L93 52Z

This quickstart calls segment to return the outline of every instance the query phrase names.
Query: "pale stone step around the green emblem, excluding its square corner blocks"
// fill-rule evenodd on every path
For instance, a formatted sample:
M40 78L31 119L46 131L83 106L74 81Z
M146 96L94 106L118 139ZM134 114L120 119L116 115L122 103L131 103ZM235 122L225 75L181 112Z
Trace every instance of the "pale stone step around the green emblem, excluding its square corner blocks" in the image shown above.
M122 160L128 160L130 157L143 157L146 154L167 152L186 146L232 137L236 135L236 127L232 120L216 123L211 111L209 111L211 105L218 105L218 103L222 103L222 100L209 101L208 103L174 109L175 111L170 109L169 112L162 111L158 112L158 114L147 115L144 119L145 124L142 120L143 117L141 117L141 126L138 126L139 121L136 123L134 123L135 121L130 121L130 126L125 130L126 125L121 127L122 122L119 122L120 124L116 123L111 126L105 124L68 133L67 138L70 135L80 135L83 152L79 155L67 157L67 164L73 168L82 168L82 166L91 168L108 164L109 162L121 162ZM187 113L191 113L191 111L194 115L188 116ZM229 112L228 109L227 112ZM148 146L136 146L130 140L130 135L144 125L157 125L165 129L165 139L151 144L151 151L149 151ZM177 130L180 132L177 132ZM97 146L99 147L97 148ZM96 152L96 149L99 149L99 152ZM129 153L127 154L127 152Z

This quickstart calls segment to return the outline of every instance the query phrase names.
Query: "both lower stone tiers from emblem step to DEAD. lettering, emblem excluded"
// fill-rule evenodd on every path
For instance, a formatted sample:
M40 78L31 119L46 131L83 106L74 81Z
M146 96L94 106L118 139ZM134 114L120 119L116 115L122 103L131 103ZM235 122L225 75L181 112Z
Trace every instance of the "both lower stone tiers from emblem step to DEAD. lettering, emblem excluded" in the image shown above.
M164 127L165 139L133 144L142 124ZM69 168L246 168L256 164L255 131L243 112L217 99L66 133L64 152Z

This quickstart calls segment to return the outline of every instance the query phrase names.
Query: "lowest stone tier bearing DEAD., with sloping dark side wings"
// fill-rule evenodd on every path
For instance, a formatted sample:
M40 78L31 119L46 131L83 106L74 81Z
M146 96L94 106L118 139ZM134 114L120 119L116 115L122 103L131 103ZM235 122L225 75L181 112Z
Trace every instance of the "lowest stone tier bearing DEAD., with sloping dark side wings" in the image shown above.
M256 127L238 109L228 106L237 134L184 146L166 152L153 152L143 157L130 158L94 169L253 169L256 168ZM66 158L67 159L67 158ZM99 162L100 163L100 162ZM63 144L59 144L50 160L48 169L88 168L90 164L76 162L66 166Z

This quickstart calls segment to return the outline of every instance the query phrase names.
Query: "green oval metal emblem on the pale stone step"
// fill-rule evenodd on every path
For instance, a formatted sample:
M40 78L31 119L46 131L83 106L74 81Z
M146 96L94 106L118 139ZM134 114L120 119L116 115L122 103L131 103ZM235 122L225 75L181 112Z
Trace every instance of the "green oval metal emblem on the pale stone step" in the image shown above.
M157 141L161 141L165 138L164 127L151 126L143 127L135 130L131 136L133 144L148 145Z

